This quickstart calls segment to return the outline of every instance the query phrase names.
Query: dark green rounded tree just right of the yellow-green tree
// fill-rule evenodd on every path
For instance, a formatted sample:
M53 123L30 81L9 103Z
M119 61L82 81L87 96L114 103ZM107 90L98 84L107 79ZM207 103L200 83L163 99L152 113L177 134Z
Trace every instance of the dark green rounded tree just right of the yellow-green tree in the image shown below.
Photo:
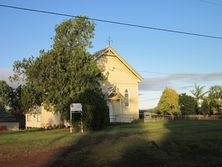
M179 95L179 105L182 115L196 114L196 100L192 96L183 93Z

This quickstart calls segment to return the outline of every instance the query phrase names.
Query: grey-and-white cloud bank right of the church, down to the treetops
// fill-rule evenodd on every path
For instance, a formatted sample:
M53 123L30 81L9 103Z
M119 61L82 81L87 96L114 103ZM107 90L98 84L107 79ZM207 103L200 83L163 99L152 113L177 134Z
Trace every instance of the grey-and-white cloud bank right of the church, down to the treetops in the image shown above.
M178 93L190 93L197 83L201 86L222 85L222 72L217 73L178 73L161 77L145 78L139 84L140 109L153 108L158 104L159 98L165 87L171 87Z

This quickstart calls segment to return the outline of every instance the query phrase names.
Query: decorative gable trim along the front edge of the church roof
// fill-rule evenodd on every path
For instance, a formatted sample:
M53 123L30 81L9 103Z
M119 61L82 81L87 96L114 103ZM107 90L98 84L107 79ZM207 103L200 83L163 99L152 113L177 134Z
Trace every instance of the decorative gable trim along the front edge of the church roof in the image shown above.
M136 70L133 69L131 65L129 65L125 59L123 59L115 49L113 49L111 46L108 46L104 49L101 49L93 54L96 60L98 60L101 56L108 55L108 56L116 56L138 79L140 82L143 81L143 77L136 72Z

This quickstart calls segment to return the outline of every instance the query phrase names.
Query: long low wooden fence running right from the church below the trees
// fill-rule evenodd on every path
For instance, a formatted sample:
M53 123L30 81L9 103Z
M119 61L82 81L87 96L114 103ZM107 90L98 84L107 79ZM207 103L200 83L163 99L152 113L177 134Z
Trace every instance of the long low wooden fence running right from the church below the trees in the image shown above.
M158 120L221 120L222 115L158 115L144 112L144 122Z

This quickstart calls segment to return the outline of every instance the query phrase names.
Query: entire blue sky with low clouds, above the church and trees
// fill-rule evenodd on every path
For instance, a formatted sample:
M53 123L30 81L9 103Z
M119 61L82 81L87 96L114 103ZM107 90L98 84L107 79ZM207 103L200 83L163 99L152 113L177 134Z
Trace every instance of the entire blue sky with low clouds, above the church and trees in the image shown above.
M0 0L34 8L117 22L222 37L220 0ZM0 80L13 63L52 45L54 28L68 17L0 7ZM194 84L222 85L222 40L95 22L94 53L112 47L144 78L139 107L155 107L165 87L190 94Z

